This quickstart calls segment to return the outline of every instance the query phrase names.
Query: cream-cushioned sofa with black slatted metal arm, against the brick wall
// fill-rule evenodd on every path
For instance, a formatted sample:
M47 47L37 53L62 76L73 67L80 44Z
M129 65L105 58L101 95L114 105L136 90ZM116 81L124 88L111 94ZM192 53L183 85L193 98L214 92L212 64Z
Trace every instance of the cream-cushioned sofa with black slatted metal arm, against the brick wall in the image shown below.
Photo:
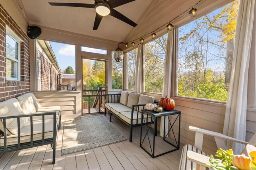
M60 106L41 107L32 93L0 102L0 153L51 144L54 164L60 121Z

